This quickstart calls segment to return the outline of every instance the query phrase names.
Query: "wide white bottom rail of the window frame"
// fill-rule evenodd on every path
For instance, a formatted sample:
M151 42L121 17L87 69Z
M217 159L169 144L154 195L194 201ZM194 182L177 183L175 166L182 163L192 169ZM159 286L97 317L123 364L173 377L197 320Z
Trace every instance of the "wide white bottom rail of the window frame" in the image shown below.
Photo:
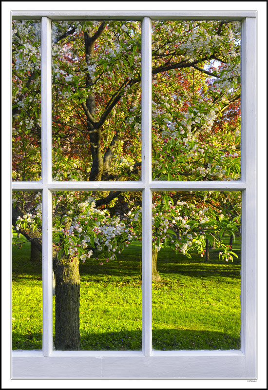
M49 358L33 351L33 356L29 355L14 354L13 378L247 378L245 356L240 351L152 352L151 356L141 352L102 352L102 356L53 352Z

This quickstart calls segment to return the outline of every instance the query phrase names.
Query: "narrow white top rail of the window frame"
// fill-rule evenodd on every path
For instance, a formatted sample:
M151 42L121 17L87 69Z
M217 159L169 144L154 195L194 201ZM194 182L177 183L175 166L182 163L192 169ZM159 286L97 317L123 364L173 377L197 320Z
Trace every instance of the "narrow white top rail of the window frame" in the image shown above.
M36 20L47 17L51 20L142 20L144 17L152 20L242 20L246 17L256 17L256 12L250 11L13 11L13 20Z

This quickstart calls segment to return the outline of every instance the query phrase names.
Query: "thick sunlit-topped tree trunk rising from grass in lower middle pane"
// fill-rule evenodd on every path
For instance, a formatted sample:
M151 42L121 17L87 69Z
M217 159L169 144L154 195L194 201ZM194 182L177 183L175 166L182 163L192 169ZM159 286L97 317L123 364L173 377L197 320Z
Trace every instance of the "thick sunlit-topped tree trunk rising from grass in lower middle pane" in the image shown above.
M65 256L57 264L55 297L55 348L80 350L80 275L77 257Z

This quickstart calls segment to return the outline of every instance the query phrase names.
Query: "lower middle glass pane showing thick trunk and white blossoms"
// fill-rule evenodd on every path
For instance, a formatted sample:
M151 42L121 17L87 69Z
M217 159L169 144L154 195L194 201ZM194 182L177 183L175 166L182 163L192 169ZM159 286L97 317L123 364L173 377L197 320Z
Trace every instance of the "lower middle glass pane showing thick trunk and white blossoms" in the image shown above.
M141 194L53 193L56 350L141 349Z

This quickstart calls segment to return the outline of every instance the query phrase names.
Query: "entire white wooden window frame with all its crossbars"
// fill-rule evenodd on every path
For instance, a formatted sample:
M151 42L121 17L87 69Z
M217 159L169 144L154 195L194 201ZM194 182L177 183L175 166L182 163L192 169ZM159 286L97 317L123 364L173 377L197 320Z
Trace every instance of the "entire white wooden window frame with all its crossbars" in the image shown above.
M13 351L12 378L256 378L256 12L12 12L13 20L41 20L42 180L13 182L13 191L41 191L42 351ZM136 182L52 180L51 21L141 20L142 178ZM152 181L152 20L241 21L241 180ZM53 351L52 191L142 191L142 351ZM241 349L152 351L152 191L242 192ZM145 260L146 259L146 260ZM30 368L30 370L29 370Z

